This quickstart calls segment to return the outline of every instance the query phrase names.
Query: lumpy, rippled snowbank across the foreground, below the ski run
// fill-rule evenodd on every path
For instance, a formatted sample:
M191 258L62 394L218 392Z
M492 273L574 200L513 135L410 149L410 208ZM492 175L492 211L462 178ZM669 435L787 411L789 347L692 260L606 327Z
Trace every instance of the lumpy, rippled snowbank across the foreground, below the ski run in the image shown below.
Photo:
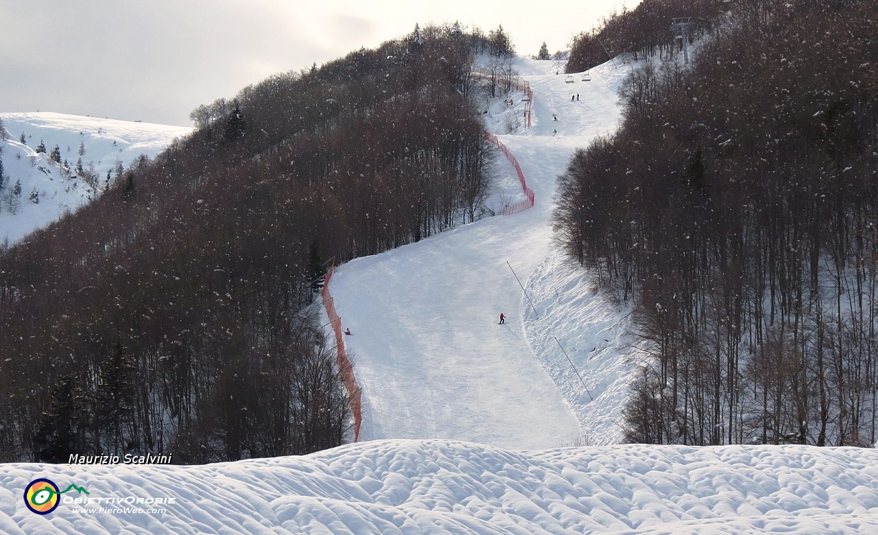
M0 531L19 533L875 533L878 452L616 445L512 452L376 441L206 466L0 466ZM166 512L25 509L36 478ZM76 496L76 492L63 495ZM84 495L83 495L84 496ZM115 509L117 505L106 505ZM144 507L136 505L129 507Z

